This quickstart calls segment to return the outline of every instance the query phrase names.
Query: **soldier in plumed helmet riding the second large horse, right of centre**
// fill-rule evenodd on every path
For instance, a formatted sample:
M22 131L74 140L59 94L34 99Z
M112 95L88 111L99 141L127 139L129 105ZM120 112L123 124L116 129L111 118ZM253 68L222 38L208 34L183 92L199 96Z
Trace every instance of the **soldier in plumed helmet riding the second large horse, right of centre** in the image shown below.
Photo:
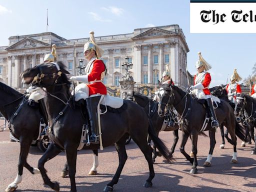
M191 94L193 94L198 99L205 99L208 109L210 111L211 127L217 127L218 121L214 111L214 107L211 101L211 94L209 91L209 84L211 81L210 73L207 72L211 68L211 65L208 64L202 57L201 52L198 52L199 59L196 61L195 67L198 71L194 75L194 85L189 86Z

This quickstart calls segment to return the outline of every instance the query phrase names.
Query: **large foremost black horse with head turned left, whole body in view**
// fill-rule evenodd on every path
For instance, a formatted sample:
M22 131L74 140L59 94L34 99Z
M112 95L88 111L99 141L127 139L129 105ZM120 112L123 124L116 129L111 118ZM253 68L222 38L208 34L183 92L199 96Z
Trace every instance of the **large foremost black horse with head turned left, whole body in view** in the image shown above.
M51 182L47 176L44 170L44 163L56 156L61 150L65 150L71 186L70 191L74 192L76 191L76 148L80 143L82 127L87 121L87 115L84 116L81 113L81 107L75 106L69 91L70 82L64 73L68 73L68 71L64 69L64 65L61 62L42 63L26 69L22 76L24 82L31 83L33 81L34 84L46 88L45 104L49 119L48 136L52 142L38 161L38 168L43 181L55 191L59 191L59 184ZM145 111L130 100L123 100L123 103L119 112L108 111L100 117L102 144L104 147L115 144L119 156L119 165L116 173L113 179L105 186L104 191L112 191L113 185L119 179L127 159L125 150L127 134L139 146L148 162L150 173L143 186L151 186L151 180L154 177L151 149L147 145L147 134L152 138L161 154L169 160L168 149L156 136ZM91 144L87 148L96 149L98 144Z

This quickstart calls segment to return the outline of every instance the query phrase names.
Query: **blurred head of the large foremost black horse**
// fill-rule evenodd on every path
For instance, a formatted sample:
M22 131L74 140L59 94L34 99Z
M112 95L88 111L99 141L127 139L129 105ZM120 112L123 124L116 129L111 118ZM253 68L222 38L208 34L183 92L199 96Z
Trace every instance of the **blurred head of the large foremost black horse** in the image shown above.
M21 73L21 77L23 77L23 81L26 84L31 83L35 86L47 88L56 83L70 84L65 74L69 74L69 72L65 69L64 64L56 61L41 63L32 68L27 68Z

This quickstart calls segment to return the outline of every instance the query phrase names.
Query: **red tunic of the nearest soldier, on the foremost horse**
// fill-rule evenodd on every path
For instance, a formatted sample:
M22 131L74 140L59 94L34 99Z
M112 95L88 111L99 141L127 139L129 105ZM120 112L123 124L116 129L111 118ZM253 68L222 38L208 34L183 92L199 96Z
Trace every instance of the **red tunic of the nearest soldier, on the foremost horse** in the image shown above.
M101 80L101 73L105 70L105 65L102 60L95 59L92 63L92 69L88 75L88 81ZM102 82L93 82L92 84L87 84L89 87L89 95L92 94L106 94L106 87Z

